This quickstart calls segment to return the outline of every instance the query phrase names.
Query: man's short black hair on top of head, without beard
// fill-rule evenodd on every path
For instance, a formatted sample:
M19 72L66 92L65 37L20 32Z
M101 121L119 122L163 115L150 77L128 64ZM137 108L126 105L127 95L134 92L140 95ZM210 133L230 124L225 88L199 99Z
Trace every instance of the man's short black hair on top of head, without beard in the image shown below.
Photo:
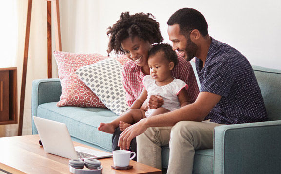
M208 35L208 23L205 17L193 8L182 8L176 11L168 20L168 25L179 24L183 35L197 29L203 36Z

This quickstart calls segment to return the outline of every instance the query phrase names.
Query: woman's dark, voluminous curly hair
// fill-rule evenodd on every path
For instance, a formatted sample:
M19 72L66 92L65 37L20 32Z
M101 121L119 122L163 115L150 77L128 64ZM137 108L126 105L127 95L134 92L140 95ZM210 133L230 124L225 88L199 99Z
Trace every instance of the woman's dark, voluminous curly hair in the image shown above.
M129 12L123 12L120 19L111 27L108 28L107 36L109 36L109 43L107 53L112 50L116 54L123 54L121 41L128 37L134 38L138 36L140 39L148 41L149 43L161 43L163 37L159 29L159 23L150 13L136 13L130 15Z

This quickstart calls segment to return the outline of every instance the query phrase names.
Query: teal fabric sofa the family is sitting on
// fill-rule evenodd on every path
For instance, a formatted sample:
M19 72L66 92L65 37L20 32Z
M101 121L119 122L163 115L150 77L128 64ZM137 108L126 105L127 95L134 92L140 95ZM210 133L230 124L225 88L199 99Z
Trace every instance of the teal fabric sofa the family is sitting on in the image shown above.
M281 70L253 69L270 121L216 127L214 149L196 151L193 174L281 174ZM111 152L112 135L97 127L117 115L104 108L57 107L60 95L59 79L34 80L32 115L63 122L74 141ZM38 133L33 122L32 133ZM168 159L163 147L164 169Z

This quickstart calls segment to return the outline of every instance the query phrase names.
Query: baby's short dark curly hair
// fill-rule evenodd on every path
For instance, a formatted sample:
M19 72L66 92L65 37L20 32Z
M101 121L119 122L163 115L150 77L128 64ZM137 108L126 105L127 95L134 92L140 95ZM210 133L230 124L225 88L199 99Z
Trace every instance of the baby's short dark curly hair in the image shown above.
M153 45L153 47L149 50L149 57L159 52L163 52L165 59L167 59L169 62L174 62L174 67L178 64L178 56L176 52L173 51L173 48L170 44L160 43Z

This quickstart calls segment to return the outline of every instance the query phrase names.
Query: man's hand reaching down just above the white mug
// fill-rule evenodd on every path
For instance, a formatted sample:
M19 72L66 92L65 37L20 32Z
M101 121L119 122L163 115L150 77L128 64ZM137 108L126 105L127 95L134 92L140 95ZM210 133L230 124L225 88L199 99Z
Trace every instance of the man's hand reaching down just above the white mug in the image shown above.
M118 141L118 146L120 147L120 150L129 149L132 139L146 131L147 128L144 125L145 119L146 118L140 120L138 123L135 123L132 126L129 126L125 129L125 131L120 134Z

